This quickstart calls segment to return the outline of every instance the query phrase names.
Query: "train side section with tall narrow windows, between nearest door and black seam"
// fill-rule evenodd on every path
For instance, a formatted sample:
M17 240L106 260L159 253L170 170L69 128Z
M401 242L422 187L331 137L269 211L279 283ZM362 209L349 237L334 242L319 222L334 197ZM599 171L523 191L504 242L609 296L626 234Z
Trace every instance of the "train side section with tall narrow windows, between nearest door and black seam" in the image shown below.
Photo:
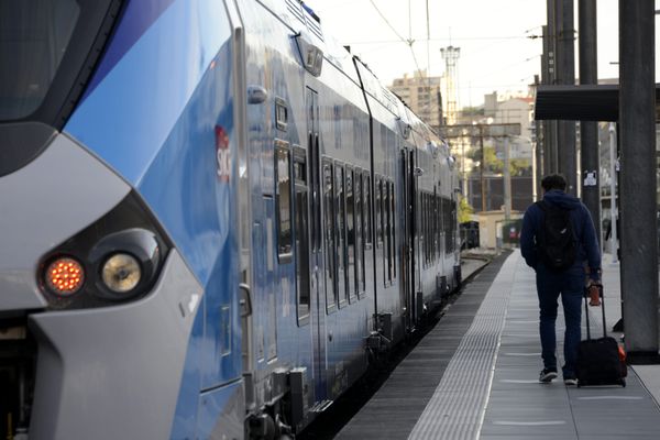
M327 50L331 50L327 48ZM344 52L345 53L345 52ZM352 63L346 63L352 68ZM316 82L316 85L315 85ZM365 339L374 310L364 256L364 180L370 174L367 113L355 73L326 62L318 81L320 114L321 285L327 353L323 400L333 400L366 369Z

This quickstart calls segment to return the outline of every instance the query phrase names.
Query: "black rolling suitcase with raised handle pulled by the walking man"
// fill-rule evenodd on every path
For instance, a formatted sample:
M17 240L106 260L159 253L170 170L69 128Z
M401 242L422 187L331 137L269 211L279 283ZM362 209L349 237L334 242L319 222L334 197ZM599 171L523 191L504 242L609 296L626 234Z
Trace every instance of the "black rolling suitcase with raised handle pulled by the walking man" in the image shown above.
M626 386L626 364L620 358L616 340L607 336L605 322L605 301L603 287L600 286L601 308L603 310L603 338L592 339L588 326L587 290L584 295L586 316L586 341L578 348L578 386L622 385Z

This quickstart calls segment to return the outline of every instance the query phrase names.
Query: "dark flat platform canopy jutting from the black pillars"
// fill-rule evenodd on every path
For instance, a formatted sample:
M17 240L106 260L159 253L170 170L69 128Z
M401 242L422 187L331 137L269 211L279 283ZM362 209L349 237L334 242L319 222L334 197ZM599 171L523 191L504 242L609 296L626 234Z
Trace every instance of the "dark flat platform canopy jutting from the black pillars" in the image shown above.
M539 85L536 120L618 121L618 85ZM659 120L660 85L656 85L656 120Z

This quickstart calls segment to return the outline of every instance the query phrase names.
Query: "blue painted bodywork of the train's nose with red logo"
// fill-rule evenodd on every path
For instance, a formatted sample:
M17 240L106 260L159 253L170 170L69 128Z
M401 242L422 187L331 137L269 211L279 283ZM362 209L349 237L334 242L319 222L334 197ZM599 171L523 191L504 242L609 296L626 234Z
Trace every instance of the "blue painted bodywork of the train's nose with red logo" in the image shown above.
M218 399L241 403L222 429L242 432L230 25L217 2L165 3L147 29L140 29L145 7L129 3L108 51L117 59L101 64L102 78L66 130L135 188L204 286L204 295L182 306L195 322L183 374L168 378L180 384L172 437L210 431L198 426L199 414ZM136 41L128 38L139 31Z

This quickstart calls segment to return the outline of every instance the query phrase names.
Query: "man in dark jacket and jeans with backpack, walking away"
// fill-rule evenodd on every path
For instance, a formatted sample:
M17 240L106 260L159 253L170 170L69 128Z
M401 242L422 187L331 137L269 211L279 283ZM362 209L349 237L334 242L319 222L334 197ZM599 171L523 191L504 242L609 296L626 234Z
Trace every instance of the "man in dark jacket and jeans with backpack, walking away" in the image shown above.
M542 383L557 377L556 331L558 298L564 310L564 384L575 385L578 345L582 338L582 298L585 274L600 284L601 252L592 217L580 199L564 193L561 175L541 180L543 200L527 208L520 231L520 252L536 271L539 297Z

